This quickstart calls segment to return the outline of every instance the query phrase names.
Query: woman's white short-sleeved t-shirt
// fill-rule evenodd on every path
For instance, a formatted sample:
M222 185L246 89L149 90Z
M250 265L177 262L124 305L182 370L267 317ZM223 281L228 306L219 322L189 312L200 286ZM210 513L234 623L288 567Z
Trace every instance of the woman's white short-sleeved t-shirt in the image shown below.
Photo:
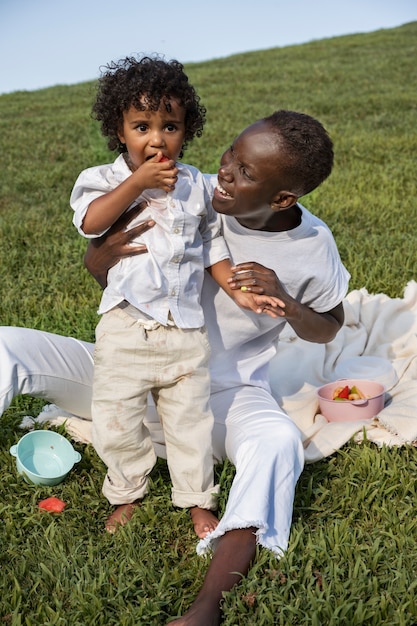
M318 313L345 297L350 274L328 226L306 208L290 231L254 231L222 215L223 237L233 263L255 261L272 269L286 291ZM268 365L276 354L283 318L239 308L205 273L202 306L208 328L212 391L239 385L268 387Z

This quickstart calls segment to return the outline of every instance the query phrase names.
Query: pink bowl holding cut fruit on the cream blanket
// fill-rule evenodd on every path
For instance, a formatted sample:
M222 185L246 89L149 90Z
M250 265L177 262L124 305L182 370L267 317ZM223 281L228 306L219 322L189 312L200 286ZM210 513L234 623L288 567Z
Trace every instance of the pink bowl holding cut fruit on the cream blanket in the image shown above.
M366 396L365 400L333 400L337 387L356 387ZM385 387L373 380L346 378L327 383L317 390L320 413L328 422L356 422L372 419L384 408Z

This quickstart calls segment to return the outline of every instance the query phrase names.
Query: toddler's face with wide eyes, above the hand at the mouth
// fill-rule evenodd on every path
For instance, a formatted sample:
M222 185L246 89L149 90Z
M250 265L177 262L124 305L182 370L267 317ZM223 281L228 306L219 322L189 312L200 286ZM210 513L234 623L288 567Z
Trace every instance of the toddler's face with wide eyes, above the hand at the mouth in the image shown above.
M131 106L124 112L119 139L126 144L133 170L158 151L169 159L178 159L185 137L185 109L176 100L170 104L171 111L161 104L158 111L139 111Z

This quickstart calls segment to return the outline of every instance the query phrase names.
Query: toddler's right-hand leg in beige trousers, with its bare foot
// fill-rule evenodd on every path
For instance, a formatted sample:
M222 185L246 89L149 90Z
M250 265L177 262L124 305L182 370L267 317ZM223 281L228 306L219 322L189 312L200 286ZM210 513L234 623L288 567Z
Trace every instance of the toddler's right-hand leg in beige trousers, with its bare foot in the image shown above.
M170 365L166 384L154 392L154 397L164 427L172 501L174 506L200 509L194 511L193 517L196 516L196 532L201 537L217 524L210 513L217 508L218 493L211 441L210 349L203 329L168 328L165 332ZM202 509L207 513L203 514ZM209 531L204 531L205 526Z

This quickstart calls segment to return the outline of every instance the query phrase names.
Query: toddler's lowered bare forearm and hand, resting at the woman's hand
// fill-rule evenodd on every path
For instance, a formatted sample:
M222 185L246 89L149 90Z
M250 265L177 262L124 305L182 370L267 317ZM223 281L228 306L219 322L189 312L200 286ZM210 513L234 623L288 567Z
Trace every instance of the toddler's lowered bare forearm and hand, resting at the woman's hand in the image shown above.
M228 279L232 276L231 268L230 259L224 259L208 267L207 271L240 307L250 309L256 313L266 313L270 317L279 317L278 309L283 306L283 303L278 298L230 288Z

